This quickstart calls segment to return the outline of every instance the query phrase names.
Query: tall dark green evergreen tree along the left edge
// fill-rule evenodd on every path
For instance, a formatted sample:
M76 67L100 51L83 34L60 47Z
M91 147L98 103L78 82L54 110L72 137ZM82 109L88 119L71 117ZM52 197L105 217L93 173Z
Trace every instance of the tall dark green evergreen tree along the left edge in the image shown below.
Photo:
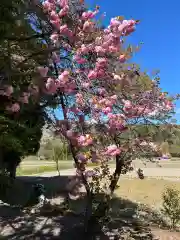
M28 19L27 2L2 1L0 11L0 164L2 171L14 176L21 158L39 149L47 118L40 105L37 74L34 73L46 59L37 54L42 52L43 46L34 36L36 32ZM32 92L31 99L28 91ZM14 106L16 112L21 103L23 107L18 113L5 111L9 105Z

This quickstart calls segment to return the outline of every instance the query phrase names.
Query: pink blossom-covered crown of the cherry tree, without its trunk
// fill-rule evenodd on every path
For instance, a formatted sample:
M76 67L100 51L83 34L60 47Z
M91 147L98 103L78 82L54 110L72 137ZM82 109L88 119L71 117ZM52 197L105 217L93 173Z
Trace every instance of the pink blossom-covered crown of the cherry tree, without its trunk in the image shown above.
M89 150L93 152L93 161L120 155L125 149L123 146L108 141L102 145L98 136L104 134L105 138L113 138L126 131L137 118L156 117L173 110L172 102L153 82L151 90L145 92L139 89L128 95L119 91L126 76L120 74L115 66L122 65L129 58L123 48L123 39L135 31L138 21L114 17L103 29L95 20L99 13L97 6L92 11L79 13L76 22L69 25L68 0L46 0L42 8L53 29L49 47L62 48L70 61L67 69L62 68L60 53L52 51L49 65L37 68L44 82L44 93L52 96L59 94L62 101L66 99L65 106L61 106L66 120L60 126L61 134L78 149L80 162L89 159L84 154ZM27 103L31 92L23 93L18 101ZM13 94L12 86L7 86L0 94L10 97ZM67 97L70 97L69 102ZM14 103L7 106L7 110L17 112L20 105ZM105 132L84 130L85 119L104 124ZM76 126L73 127L72 123Z

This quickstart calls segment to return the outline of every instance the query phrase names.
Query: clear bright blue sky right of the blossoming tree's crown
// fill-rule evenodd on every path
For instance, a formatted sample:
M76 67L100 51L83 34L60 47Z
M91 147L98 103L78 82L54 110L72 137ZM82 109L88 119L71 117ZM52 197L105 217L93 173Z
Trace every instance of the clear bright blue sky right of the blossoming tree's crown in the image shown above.
M144 44L133 60L148 72L160 70L163 90L180 93L180 0L88 0L87 3L89 7L98 4L101 12L106 12L105 25L114 16L140 20L129 42ZM180 123L180 112L176 117Z

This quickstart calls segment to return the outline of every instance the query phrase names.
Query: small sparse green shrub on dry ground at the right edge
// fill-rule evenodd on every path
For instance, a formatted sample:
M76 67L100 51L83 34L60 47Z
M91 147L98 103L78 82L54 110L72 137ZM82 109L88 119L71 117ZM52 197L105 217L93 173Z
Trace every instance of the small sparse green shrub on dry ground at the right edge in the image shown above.
M167 188L163 193L162 213L170 220L171 227L180 222L180 192L173 188Z

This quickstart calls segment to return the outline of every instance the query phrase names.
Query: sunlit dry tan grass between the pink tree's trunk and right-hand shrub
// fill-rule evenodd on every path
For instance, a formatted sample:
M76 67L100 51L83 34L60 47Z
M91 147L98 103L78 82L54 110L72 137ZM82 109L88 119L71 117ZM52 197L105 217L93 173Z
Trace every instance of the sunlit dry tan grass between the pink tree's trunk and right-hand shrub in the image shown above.
M162 203L162 193L166 187L180 191L180 182L158 179L121 179L118 185L120 187L115 191L117 196L157 207Z

